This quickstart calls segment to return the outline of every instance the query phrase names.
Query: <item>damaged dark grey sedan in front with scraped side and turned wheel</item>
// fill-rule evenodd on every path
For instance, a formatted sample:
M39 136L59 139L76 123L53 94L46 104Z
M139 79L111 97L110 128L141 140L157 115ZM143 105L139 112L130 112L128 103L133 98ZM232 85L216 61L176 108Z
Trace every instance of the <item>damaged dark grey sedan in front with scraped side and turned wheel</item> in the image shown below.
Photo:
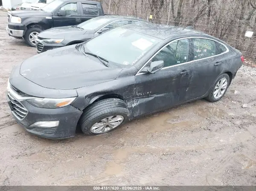
M8 103L27 131L50 139L102 134L193 100L220 100L241 52L191 29L131 24L17 65Z

